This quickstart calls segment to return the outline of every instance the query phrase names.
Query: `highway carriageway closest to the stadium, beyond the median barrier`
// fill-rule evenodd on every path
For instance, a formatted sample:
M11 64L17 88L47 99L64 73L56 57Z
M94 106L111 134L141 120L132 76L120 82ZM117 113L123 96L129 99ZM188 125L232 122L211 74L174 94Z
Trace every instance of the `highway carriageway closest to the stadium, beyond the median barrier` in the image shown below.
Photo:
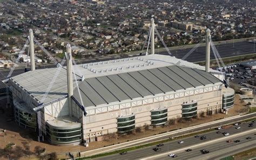
M166 142L166 143L164 143L163 147L160 147L161 151L159 151L159 152L155 152L155 151L152 150L156 146L151 146L151 147L145 147L145 148L142 148L142 149L129 151L127 155L115 154L115 155L100 157L100 158L97 158L97 159L141 159L141 158L155 156L157 154L163 154L165 152L169 152L169 151L177 150L177 149L181 149L181 148L184 148L184 150L185 150L186 147L188 148L188 146L194 146L194 145L197 145L197 144L200 144L200 143L204 143L204 142L207 142L207 141L212 141L212 140L216 140L216 139L220 139L222 137L225 137L222 134L223 132L228 132L228 133L230 133L230 136L231 136L231 135L234 135L234 134L246 132L248 130L252 130L252 129L255 130L256 127L255 126L254 127L248 127L248 123L251 123L251 122L242 123L242 125L240 125L241 126L240 129L235 129L235 126L232 126L232 127L226 128L226 129L221 129L220 134L216 133L217 130L214 130L213 132L206 133L204 135L207 137L207 139L204 140L204 141L202 141L199 138L196 138L194 136L191 136L191 137L186 137L184 139L179 139L179 140L173 140L173 141L170 141L170 142ZM254 123L254 125L256 125L256 124ZM253 131L253 132L256 133L256 130ZM253 134L251 134L251 135L253 137L253 139L251 139L251 140L255 141L256 135L253 135ZM199 136L201 136L201 135L199 135ZM184 143L178 144L179 141L184 141ZM203 148L203 149L207 149L207 148ZM176 153L174 153L174 154L176 154ZM183 151L183 154L185 156L185 151ZM183 156L183 154L182 154L182 156ZM188 154L190 154L190 152ZM200 154L200 152L199 152L199 154ZM164 155L165 155L164 157L166 157L167 153L164 154ZM177 152L177 155L178 155L178 152ZM152 159L155 159L155 158L152 158ZM156 157L156 159L161 159L161 158Z

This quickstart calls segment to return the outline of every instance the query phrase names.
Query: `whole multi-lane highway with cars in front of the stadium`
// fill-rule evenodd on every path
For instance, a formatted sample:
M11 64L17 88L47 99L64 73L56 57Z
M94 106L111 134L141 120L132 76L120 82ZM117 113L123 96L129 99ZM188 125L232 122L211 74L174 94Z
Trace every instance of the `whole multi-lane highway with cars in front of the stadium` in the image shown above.
M253 127L248 127L249 123L251 123L251 122L242 123L241 125L239 125L241 127L240 129L235 129L235 126L231 126L229 128L221 129L220 134L216 133L218 130L214 130L213 132L202 134L202 135L205 135L207 137L206 140L200 140L199 137L196 138L194 136L191 136L191 137L186 137L184 139L178 139L178 140L173 140L173 141L170 141L170 142L166 142L166 143L164 143L163 147L160 147L161 151L159 151L159 152L156 152L156 151L152 150L156 146L151 146L151 147L145 147L145 148L142 148L142 149L128 151L128 154L126 154L126 155L115 154L115 155L100 157L100 158L97 158L97 159L142 159L142 158L161 159L161 158L170 158L170 157L167 157L168 153L171 152L172 150L178 150L178 149L182 149L182 151L181 151L182 155L179 155L178 154L179 152L177 152L177 153L173 152L174 154L178 155L177 159L193 158L193 157L191 157L191 155L187 155L188 157L186 157L186 154L192 154L193 152L197 152L198 150L195 149L195 150L192 150L191 152L185 152L185 149L191 148L190 146L200 145L200 143L205 143L207 141L209 142L209 141L212 141L212 140L217 140L217 139L223 138L223 137L225 137L223 135L223 132L228 132L228 133L230 133L230 136L232 136L234 134L238 134L238 133L241 134L242 132L246 132L246 131L251 130L253 133L250 134L250 136L252 137L252 139L250 141L254 142L256 140L256 135L254 135L254 133L256 133L256 129L255 129L256 128L255 127L256 123L254 123ZM199 135L199 136L202 136L202 135ZM248 136L248 135L246 135L246 136ZM178 144L179 141L184 141L184 143ZM225 141L226 140L223 140L223 142L225 142ZM240 143L244 143L244 142L245 142L245 140L241 140ZM221 141L221 143L222 143L222 141ZM225 142L225 144L226 143L227 142ZM234 144L234 142L232 142L232 144ZM201 149L207 149L207 150L212 149L212 151L213 151L214 147L215 147L215 149L218 150L218 147L216 145L220 146L219 144L215 144L215 146L214 145L211 145L211 146L208 145L209 148L204 148L204 147L201 148L200 147L199 150L201 150ZM191 149L193 149L193 148L191 148ZM164 154L164 156L161 155L159 157L158 156L155 157L158 154ZM200 154L201 153L198 152L198 154L195 154L194 156L201 156ZM150 158L151 156L154 156L154 158ZM184 158L180 158L182 156L184 156Z

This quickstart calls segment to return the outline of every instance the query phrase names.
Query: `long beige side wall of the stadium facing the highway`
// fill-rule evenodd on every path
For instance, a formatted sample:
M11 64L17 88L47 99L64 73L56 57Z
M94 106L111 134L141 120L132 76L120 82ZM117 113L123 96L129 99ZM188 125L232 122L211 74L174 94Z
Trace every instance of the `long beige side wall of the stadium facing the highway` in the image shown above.
M186 102L197 101L198 114L214 114L220 112L222 104L222 85L213 85L199 89L191 89L163 96L147 97L136 101L127 101L115 105L88 107L83 124L84 139L95 141L97 136L117 132L117 118L134 114L136 127L145 123L151 125L150 111L167 108L167 119L181 118L181 108ZM73 103L73 108L78 106ZM80 113L82 114L82 113Z

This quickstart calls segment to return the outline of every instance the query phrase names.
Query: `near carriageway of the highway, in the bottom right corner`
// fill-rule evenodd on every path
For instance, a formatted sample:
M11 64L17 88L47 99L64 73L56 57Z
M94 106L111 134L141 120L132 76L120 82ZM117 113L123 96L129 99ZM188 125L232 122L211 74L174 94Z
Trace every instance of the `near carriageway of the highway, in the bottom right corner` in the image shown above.
M247 140L246 137L248 137L248 136L252 137L252 139ZM198 159L206 159L205 156L208 156L208 155L215 156L215 158L218 158L217 151L220 152L220 150L230 148L230 147L234 148L235 146L239 146L241 144L245 144L245 143L248 143L248 142L254 143L254 142L256 142L256 135L250 133L250 134L246 134L246 135L242 135L242 136L238 136L238 137L233 137L232 140L233 141L240 140L240 142L227 143L226 142L227 140L223 140L221 142L215 142L213 144L205 144L204 146L200 146L200 147L195 147L195 148L191 147L192 151L189 151L189 152L187 152L185 150L184 151L178 151L178 152L170 151L169 154L177 155L178 159L190 159L190 158L194 159L194 157L196 157ZM203 149L210 151L210 153L209 154L202 154L201 150L203 150ZM166 156L159 157L159 158L161 158L161 159L167 159L167 158L170 159L170 157L168 157L168 154L166 154ZM208 157L208 158L210 158L210 157Z

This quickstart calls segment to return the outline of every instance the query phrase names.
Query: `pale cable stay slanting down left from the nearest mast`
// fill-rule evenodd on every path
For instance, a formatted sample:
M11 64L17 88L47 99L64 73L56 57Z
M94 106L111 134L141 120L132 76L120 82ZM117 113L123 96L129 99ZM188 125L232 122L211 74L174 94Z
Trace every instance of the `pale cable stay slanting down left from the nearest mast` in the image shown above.
M66 61L66 60L65 60L65 57L64 57L63 60L62 60L62 62L60 63L60 65L63 66L63 64L65 63L65 61ZM37 110L40 110L41 108L43 108L42 105L43 105L43 103L44 103L44 101L45 101L45 99L46 99L46 96L49 94L49 92L50 92L50 90L51 90L51 88L52 88L53 83L55 83L56 78L57 78L58 75L59 75L60 69L62 69L62 67L58 67L58 68L57 68L57 70L56 70L56 72L55 72L55 75L52 77L52 80L51 80L50 85L48 86L47 90L46 90L45 93L44 93L43 98L39 101L39 106L36 107L36 108L33 108L34 111L37 111Z

